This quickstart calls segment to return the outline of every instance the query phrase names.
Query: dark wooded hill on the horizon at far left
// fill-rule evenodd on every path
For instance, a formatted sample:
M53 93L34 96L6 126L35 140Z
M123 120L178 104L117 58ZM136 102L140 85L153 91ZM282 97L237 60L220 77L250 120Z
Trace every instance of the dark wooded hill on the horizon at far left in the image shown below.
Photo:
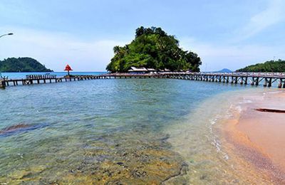
M51 72L37 60L29 57L0 60L1 72Z

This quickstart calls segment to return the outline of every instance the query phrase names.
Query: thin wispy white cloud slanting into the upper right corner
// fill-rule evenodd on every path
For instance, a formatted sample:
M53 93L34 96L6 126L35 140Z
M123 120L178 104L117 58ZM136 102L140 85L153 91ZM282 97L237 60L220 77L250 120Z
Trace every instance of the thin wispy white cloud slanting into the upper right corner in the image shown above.
M284 9L284 0L269 0L266 9L252 16L249 22L238 31L239 37L237 40L247 39L269 26L285 21Z

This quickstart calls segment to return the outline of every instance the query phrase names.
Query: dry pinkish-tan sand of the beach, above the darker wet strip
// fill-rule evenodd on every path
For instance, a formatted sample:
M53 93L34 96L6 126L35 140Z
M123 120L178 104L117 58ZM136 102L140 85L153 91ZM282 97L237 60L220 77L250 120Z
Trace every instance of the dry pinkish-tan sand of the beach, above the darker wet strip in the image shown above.
M285 114L258 112L257 108L285 110L284 93L266 93L263 101L252 98L239 119L237 129L259 146L274 164L285 171Z

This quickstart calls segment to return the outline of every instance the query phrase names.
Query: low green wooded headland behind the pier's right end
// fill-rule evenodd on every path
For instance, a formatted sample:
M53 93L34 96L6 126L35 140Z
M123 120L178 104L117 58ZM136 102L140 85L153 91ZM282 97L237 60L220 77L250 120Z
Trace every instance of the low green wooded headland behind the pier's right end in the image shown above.
M279 59L266 61L265 63L257 63L239 69L237 72L285 72L285 60Z

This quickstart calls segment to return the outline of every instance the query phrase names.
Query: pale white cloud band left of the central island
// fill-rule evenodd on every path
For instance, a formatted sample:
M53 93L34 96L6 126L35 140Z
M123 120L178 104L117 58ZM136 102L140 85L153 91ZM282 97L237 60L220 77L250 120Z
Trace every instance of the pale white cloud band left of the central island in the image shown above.
M1 32L16 30L14 36L0 40L0 58L29 56L47 68L63 70L66 63L76 71L102 71L113 57L113 46L127 41L102 39L82 41L66 33L48 33L23 28L0 28Z

